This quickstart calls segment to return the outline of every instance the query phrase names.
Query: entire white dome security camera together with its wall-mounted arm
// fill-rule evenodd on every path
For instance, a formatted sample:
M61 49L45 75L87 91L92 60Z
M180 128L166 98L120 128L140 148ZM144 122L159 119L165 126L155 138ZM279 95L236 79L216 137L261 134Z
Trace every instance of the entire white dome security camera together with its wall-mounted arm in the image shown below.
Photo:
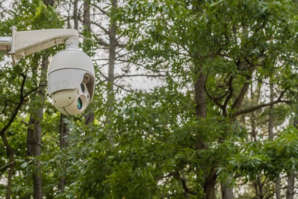
M0 53L11 55L13 65L27 55L66 44L66 50L50 63L48 92L59 112L77 115L84 111L93 99L95 72L91 58L78 50L78 31L60 28L17 32L15 26L11 31L11 37L0 37Z

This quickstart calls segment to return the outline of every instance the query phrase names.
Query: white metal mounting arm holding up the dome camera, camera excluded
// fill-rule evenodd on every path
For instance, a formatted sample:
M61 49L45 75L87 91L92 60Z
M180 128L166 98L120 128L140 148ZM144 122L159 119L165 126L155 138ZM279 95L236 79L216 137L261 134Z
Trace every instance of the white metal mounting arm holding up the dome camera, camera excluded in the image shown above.
M44 29L16 31L12 26L11 37L0 37L0 53L12 57L13 65L17 59L42 51L52 46L66 43L66 48L78 49L78 31L76 29Z

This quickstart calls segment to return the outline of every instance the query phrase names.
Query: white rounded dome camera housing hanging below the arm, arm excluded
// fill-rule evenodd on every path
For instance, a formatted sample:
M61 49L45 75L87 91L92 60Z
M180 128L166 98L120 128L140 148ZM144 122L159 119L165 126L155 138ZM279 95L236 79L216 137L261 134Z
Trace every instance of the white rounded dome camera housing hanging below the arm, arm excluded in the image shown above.
M66 115L83 112L93 99L95 72L91 58L77 49L56 54L48 70L48 92L57 110Z

